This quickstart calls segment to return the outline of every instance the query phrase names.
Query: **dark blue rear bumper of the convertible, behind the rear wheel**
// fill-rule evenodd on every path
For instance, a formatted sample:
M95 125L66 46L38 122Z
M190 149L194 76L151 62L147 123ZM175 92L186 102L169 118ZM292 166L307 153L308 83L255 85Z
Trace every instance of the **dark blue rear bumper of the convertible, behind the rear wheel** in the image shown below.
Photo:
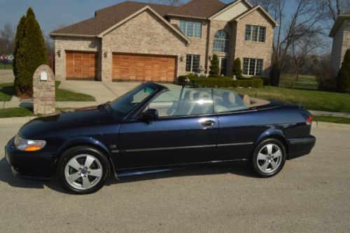
M296 157L311 153L315 143L316 138L312 135L300 139L290 139L287 160L293 160Z

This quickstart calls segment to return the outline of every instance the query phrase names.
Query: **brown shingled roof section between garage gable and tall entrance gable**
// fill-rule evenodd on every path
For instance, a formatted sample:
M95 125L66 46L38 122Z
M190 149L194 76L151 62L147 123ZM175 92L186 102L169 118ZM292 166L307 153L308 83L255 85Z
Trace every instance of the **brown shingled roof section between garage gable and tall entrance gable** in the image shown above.
M192 0L181 6L174 8L167 15L189 16L205 18L211 17L219 10L226 8L230 4L225 4L218 0Z

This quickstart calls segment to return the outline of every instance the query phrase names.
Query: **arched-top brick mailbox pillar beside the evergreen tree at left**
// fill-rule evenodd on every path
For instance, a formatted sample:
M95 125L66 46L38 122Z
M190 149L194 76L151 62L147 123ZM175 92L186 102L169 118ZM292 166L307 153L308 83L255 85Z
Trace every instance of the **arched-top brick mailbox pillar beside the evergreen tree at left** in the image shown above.
M34 114L56 111L55 75L48 65L41 65L33 76Z

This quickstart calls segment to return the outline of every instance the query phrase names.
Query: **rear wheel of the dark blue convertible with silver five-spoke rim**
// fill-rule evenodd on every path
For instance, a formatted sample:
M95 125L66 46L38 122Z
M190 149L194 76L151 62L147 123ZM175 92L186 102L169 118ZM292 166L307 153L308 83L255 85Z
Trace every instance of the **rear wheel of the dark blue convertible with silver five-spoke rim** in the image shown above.
M265 139L254 150L251 164L255 174L269 178L279 174L286 162L286 148L277 139Z

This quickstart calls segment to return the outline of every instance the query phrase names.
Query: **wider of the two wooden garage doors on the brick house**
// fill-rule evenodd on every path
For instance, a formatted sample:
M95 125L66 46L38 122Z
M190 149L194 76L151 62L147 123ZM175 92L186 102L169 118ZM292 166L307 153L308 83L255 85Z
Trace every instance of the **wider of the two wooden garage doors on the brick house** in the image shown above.
M176 58L113 54L113 80L174 82Z

